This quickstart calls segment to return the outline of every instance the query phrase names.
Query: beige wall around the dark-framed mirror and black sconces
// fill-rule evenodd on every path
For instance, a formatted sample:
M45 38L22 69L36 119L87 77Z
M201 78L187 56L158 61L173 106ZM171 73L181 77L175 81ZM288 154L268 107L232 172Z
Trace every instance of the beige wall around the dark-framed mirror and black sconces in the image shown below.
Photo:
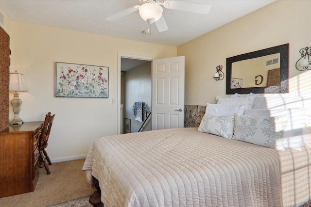
M215 96L225 95L225 79L214 80L217 65L226 58L290 44L290 92L311 88L311 71L296 70L299 49L311 47L311 1L277 0L255 12L208 32L177 47L185 55L185 104L215 103Z

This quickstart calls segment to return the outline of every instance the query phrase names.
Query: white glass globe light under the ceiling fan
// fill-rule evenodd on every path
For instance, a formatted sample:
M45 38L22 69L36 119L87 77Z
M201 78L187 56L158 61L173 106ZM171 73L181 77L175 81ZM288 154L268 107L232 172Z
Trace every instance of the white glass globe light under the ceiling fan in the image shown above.
M144 3L139 7L139 15L145 21L148 19L159 20L162 16L162 12L163 8L156 3Z

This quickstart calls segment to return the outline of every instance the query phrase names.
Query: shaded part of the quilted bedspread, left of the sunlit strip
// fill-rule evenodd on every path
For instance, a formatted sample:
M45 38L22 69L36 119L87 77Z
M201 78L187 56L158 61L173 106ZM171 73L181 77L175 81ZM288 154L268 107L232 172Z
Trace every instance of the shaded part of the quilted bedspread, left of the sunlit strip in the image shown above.
M83 170L105 207L280 207L279 165L275 149L175 128L97 139Z

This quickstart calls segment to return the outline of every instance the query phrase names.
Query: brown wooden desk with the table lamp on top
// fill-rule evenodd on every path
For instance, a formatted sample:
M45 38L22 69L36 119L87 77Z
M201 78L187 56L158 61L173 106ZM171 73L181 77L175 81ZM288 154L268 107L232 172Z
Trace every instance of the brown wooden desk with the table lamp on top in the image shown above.
M25 122L0 132L0 198L35 190L42 127L43 121Z

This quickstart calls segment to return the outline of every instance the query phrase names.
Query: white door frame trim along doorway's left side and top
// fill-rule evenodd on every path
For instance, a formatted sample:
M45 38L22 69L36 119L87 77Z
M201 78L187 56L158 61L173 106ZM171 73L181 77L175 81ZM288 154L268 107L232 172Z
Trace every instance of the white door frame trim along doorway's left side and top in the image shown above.
M118 53L118 99L117 99L117 133L121 134L121 58L152 61L154 57ZM152 68L151 68L152 70Z

